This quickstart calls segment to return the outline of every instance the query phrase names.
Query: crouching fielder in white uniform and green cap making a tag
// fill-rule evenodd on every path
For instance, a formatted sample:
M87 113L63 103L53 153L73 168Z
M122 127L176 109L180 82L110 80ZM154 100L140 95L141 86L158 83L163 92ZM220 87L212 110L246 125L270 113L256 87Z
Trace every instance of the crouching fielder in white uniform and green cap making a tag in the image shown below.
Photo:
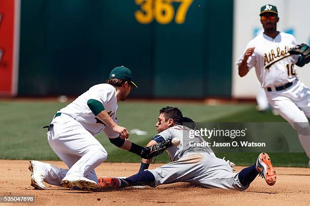
M107 158L107 152L94 135L104 131L110 142L141 155L143 147L127 140L129 133L118 125L117 101L124 101L131 88L132 72L126 67L114 68L105 84L92 86L65 108L59 110L48 128L48 142L69 170L47 163L30 161L31 186L43 184L73 189L97 186L95 168ZM142 156L141 156L142 157Z

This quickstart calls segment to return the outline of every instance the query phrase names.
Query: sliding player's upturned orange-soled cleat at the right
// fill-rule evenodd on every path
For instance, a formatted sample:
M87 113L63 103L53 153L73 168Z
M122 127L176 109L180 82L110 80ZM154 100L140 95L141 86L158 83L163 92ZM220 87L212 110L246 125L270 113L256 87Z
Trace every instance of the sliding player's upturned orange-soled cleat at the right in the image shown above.
M262 152L259 154L256 161L256 170L259 172L259 176L266 180L268 185L273 186L276 183L276 171L267 153Z

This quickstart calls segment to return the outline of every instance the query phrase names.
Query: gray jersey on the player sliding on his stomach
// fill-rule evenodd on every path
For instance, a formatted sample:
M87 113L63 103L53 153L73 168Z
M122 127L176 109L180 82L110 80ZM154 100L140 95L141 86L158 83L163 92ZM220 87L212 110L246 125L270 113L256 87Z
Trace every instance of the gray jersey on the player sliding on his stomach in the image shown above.
M210 155L214 156L212 149L209 146L193 146L193 143L203 143L206 142L201 136L195 136L193 138L189 137L189 129L188 127L176 125L170 127L169 129L159 133L165 140L173 139L177 137L180 139L181 143L178 146L172 146L168 148L166 151L170 157L171 162L177 161L182 158L187 153L194 152L207 152Z

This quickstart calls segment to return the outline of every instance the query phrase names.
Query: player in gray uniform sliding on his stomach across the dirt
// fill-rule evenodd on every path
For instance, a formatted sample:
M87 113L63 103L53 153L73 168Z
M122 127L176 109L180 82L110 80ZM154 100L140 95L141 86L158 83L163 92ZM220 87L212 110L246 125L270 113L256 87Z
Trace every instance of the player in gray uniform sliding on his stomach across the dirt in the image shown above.
M190 138L192 129L182 124L182 113L179 109L173 107L161 109L156 124L159 134L148 143L153 145L175 137L179 138L181 143L178 146L172 146L166 150L171 163L148 170L149 162L143 159L139 173L128 178L100 177L98 186L103 188L143 185L156 187L161 184L190 182L209 188L245 190L258 174L265 178L268 185L272 186L276 183L276 172L266 153L260 153L256 164L239 173L234 173L228 162L215 157L200 135Z

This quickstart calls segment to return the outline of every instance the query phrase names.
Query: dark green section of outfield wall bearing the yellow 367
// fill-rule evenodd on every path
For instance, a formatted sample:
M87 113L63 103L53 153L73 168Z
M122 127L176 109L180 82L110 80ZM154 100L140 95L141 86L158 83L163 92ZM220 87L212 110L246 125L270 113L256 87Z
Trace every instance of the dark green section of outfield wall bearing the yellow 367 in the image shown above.
M230 0L22 1L18 94L77 95L124 65L139 87L132 97L229 97L232 6Z

